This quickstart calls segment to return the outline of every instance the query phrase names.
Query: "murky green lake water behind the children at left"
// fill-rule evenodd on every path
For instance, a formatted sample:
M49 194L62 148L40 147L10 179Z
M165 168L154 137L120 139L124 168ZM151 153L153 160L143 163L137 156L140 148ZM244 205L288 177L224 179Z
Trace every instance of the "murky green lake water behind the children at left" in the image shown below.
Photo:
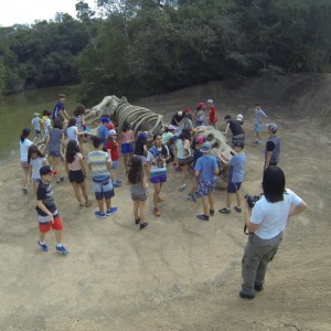
M19 154L19 140L23 128L31 128L30 140L33 140L33 114L36 111L42 115L44 109L52 111L58 93L66 95L65 108L71 115L77 104L75 86L39 88L0 99L0 163Z

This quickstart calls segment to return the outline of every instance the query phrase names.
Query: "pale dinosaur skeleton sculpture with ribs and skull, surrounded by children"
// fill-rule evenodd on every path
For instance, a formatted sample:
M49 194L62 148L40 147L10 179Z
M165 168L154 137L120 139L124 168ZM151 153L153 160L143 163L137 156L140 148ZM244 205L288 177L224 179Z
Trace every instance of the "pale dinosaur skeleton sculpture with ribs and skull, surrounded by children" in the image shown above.
M85 120L87 124L94 124L99 121L103 115L108 115L115 119L119 132L125 124L130 124L135 135L139 131L147 131L150 140L153 134L162 132L167 126L162 121L162 115L158 115L145 107L134 106L128 103L126 97L119 99L115 95L104 97L98 105L87 109ZM215 157L222 153L229 159L235 153L228 146L224 135L211 126L199 127L199 132L195 135L205 137L213 145L212 154ZM221 185L224 186L228 181L228 169L224 168L222 163L220 163L220 169L218 179L221 180Z

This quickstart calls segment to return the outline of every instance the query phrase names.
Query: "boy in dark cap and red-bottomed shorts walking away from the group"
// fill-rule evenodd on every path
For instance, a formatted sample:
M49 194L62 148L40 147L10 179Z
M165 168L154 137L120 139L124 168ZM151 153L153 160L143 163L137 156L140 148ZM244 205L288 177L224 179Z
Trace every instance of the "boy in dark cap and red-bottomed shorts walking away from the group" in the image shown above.
M54 171L49 166L40 169L41 182L36 191L36 213L39 221L39 246L43 252L49 250L49 246L44 243L45 234L53 228L56 238L56 252L67 255L68 252L62 245L62 220L58 215L51 185Z

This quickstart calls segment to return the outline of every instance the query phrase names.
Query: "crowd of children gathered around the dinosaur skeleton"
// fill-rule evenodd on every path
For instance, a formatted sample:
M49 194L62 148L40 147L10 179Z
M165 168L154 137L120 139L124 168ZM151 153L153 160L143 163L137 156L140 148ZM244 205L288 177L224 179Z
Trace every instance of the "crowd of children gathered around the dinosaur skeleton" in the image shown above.
M64 181L64 175L61 175L60 170L60 164L63 161L79 207L88 207L92 202L86 188L86 166L83 156L84 140L82 138L88 135L85 130L85 107L77 105L73 111L73 117L70 117L64 107L64 95L58 95L53 113L45 110L42 119L35 113L32 120L35 136L44 138L45 150L51 159L52 169L39 148L29 140L31 134L29 128L23 129L20 150L24 173L22 192L28 193L28 180L31 178L38 199L39 245L43 250L47 250L44 235L52 227L55 229L56 250L65 255L67 250L61 242L62 222L54 203L51 185L55 175L54 180L57 183ZM246 163L246 156L243 152L245 145L243 116L238 115L236 120L232 120L229 116L225 117L226 127L224 132L226 135L228 130L232 131L232 145L235 154L231 159L225 158L223 154L216 158L211 154L213 148L211 143L202 135L199 135L196 129L203 125L215 126L217 121L213 100L209 99L206 105L202 102L199 103L194 115L191 114L189 108L178 111L164 132L153 136L150 148L148 148L147 132L141 131L137 137L134 137L134 131L130 125L127 124L118 137L110 118L103 116L97 136L92 137L94 150L87 154L87 168L92 172L92 185L98 205L98 210L94 212L95 216L106 218L117 212L117 207L111 206L111 199L115 196L114 189L121 186L121 181L117 177L120 153L122 154L127 183L130 184L135 224L139 225L141 229L148 225L146 220L148 182L153 185L153 214L154 216L161 215L159 204L164 199L160 193L168 179L167 164L170 161L173 161L174 169L180 172L179 191L186 189L185 181L189 175L193 173L195 177L186 199L196 202L196 199L201 197L203 213L196 215L199 220L207 221L210 216L214 215L213 190L216 184L215 177L218 173L218 162L229 167L226 206L218 210L218 212L223 214L231 213L234 195L237 200L235 211L242 212L241 185L244 181ZM207 119L206 108L209 110ZM263 110L257 109L256 111L256 117L260 120ZM51 120L51 117L53 120ZM260 132L260 129L256 126L256 130Z

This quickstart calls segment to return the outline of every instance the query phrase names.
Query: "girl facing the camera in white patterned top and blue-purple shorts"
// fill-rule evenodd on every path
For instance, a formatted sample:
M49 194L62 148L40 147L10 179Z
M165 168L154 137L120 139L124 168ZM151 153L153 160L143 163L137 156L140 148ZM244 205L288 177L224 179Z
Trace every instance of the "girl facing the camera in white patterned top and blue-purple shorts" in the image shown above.
M163 183L167 182L167 160L169 159L169 150L166 145L162 145L162 137L159 134L153 135L153 146L147 153L147 168L150 182L154 185L153 213L160 216L159 202L162 202L160 192Z

